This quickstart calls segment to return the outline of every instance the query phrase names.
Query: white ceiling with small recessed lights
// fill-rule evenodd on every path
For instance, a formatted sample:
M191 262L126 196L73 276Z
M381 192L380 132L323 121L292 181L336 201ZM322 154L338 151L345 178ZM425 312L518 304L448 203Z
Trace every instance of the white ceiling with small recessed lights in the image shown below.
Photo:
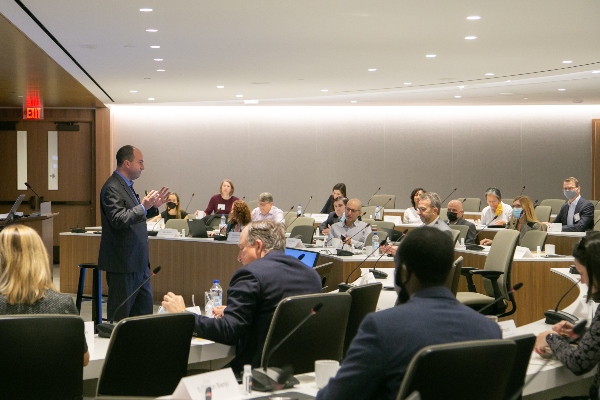
M22 0L114 103L2 2L107 105L600 104L598 0Z

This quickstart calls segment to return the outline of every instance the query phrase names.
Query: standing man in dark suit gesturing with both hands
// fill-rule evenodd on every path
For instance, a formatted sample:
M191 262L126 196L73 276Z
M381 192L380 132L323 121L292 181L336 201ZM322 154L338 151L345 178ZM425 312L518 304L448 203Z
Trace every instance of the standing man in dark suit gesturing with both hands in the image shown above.
M100 190L102 239L98 268L106 271L108 319L115 321L136 315L152 314L150 281L121 307L116 308L150 276L146 212L160 207L169 188L151 190L143 199L133 189L133 181L144 170L142 152L130 145L117 151L117 169Z

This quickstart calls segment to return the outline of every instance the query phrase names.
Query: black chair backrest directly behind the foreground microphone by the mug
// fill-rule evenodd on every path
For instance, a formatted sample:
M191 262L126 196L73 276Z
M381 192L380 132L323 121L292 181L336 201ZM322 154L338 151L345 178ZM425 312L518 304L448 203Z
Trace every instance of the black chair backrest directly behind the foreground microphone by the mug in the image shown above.
M261 366L291 365L294 374L312 372L316 360L341 360L352 298L348 293L287 297L275 309L263 347ZM311 314L315 306L318 312ZM272 349L310 317L274 352ZM270 359L269 354L272 352Z

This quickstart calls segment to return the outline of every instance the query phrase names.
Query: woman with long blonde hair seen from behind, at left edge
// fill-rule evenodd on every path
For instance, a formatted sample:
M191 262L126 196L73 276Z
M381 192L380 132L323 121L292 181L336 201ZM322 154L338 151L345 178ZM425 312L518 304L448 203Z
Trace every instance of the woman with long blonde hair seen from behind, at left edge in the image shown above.
M59 293L52 283L42 239L25 225L0 232L0 315L14 314L79 315L71 296ZM87 344L82 354L85 366L90 361Z

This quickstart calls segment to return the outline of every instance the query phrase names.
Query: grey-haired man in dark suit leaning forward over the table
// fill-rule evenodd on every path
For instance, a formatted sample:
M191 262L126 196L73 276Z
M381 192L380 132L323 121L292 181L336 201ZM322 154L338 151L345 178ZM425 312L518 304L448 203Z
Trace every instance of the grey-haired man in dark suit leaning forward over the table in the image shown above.
M227 306L213 310L215 318L196 315L199 337L236 345L230 367L260 367L262 350L279 302L286 297L321 293L321 278L295 257L287 256L283 225L271 220L252 221L238 244L238 269L229 282ZM167 293L162 302L169 312L185 311L181 296Z

